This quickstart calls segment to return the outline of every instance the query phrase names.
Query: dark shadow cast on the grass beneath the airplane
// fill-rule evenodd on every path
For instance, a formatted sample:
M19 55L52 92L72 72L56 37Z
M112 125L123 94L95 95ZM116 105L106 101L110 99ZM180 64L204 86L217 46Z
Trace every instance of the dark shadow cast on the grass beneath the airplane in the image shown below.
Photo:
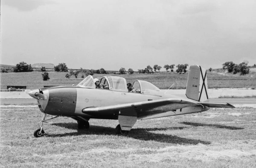
M76 123L52 123L52 125L64 127L67 129L77 129ZM173 144L190 144L196 145L198 143L202 143L204 145L209 145L210 142L203 140L194 140L183 137L177 137L175 135L168 134L157 134L152 133L150 131L157 130L169 130L169 129L183 129L186 127L169 127L164 129L156 129L156 128L147 128L147 129L132 129L129 134L125 134L126 137L131 137L138 140L153 140L162 143L173 143ZM65 133L65 134L46 134L47 137L66 137L66 136L77 136L82 134L105 134L105 135L115 135L115 129L111 127L103 127L103 126L90 126L90 129L81 129L78 132L73 133Z

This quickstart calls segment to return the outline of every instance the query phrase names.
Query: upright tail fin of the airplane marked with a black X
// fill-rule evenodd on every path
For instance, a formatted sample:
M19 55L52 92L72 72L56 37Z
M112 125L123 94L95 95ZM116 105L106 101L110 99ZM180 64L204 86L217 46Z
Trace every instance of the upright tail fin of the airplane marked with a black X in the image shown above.
M206 70L199 65L189 67L186 97L201 102L208 100Z

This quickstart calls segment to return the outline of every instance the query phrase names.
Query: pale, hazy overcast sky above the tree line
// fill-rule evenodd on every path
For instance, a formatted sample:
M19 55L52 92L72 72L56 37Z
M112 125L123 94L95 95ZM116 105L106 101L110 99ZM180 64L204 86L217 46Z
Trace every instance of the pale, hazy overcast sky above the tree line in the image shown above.
M0 64L253 65L255 9L255 0L1 0Z

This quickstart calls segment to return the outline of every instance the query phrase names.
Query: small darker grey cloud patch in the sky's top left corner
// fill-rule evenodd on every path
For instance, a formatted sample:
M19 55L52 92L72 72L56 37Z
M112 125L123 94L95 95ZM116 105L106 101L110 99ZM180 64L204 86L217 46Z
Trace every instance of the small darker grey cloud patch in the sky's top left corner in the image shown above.
M18 11L32 11L39 6L55 4L52 0L3 0L3 5L16 8Z

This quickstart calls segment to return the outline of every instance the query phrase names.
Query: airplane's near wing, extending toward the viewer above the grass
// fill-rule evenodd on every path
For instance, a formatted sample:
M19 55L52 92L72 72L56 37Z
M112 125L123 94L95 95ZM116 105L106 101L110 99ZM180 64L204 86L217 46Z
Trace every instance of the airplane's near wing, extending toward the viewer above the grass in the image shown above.
M89 107L83 109L82 112L89 115L106 115L108 113L116 116L121 114L140 117L196 105L198 104L189 100L167 98L112 106Z

